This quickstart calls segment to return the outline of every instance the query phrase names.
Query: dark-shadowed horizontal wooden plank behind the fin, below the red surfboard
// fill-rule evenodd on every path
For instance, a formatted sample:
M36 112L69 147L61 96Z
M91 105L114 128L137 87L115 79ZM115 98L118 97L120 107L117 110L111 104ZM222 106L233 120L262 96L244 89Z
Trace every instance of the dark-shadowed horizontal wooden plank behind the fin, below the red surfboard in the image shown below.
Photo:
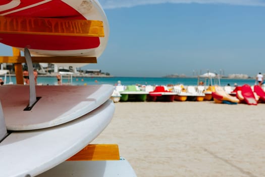
M96 57L31 57L32 63L97 63ZM25 63L25 57L21 56L0 56L0 63Z

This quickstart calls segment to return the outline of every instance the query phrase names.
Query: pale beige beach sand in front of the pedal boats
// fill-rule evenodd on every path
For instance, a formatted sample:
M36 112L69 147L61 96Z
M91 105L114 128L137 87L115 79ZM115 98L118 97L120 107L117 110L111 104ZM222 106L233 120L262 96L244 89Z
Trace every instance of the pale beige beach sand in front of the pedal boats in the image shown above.
M265 104L115 103L92 143L118 144L137 176L265 176Z

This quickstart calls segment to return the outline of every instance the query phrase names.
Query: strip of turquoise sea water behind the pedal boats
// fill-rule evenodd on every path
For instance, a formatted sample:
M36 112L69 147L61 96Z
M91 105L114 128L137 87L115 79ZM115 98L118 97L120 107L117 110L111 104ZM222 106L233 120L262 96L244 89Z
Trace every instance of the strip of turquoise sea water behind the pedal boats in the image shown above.
M118 80L123 85L130 84L143 84L143 85L167 85L167 84L183 84L183 85L197 85L198 78L162 78L162 77L73 77L74 85L92 85L92 84L117 84ZM203 80L203 79L200 79ZM8 79L9 81L9 79ZM16 78L12 77L12 81L16 83ZM233 86L234 83L237 85L249 84L254 85L255 79L220 79L221 85L227 85L228 83ZM54 85L57 83L56 77L38 77L38 83L43 85ZM63 79L63 83L69 82L69 79Z

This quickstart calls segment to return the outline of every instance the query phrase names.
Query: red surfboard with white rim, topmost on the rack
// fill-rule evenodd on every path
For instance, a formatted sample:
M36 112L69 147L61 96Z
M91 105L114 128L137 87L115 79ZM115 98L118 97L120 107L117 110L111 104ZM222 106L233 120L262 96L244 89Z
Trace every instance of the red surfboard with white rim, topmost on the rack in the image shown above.
M97 0L2 0L1 43L42 56L99 57L109 24Z

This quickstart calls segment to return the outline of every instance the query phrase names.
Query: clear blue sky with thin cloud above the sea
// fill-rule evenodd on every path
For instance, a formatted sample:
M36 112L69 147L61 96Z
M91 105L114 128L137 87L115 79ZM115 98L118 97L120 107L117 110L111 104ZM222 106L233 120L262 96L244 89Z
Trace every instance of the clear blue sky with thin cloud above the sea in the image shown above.
M114 76L265 73L265 1L99 0L110 23L97 64ZM2 55L12 50L0 46Z

